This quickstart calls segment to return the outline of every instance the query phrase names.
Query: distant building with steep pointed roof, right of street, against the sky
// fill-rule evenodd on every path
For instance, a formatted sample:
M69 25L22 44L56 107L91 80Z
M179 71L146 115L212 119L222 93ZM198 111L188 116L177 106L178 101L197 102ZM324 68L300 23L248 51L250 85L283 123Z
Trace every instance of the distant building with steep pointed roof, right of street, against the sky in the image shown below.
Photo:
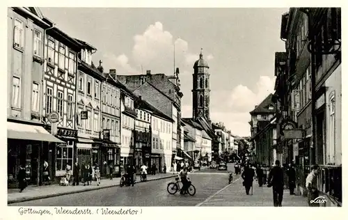
M275 132L276 132L276 104L273 94L269 94L260 104L255 106L251 114L251 136L256 149L256 162L271 166L274 162ZM279 151L278 151L279 152ZM279 154L278 157L281 157ZM280 162L283 162L283 158Z

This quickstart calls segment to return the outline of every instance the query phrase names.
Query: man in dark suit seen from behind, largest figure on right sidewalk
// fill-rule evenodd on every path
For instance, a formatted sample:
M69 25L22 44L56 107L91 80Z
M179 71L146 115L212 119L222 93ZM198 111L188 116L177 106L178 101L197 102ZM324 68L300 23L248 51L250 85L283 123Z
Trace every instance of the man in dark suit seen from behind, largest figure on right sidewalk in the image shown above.
M273 203L275 207L281 207L284 191L284 174L280 167L280 161L276 160L276 164L271 168L268 175L267 187L273 187Z

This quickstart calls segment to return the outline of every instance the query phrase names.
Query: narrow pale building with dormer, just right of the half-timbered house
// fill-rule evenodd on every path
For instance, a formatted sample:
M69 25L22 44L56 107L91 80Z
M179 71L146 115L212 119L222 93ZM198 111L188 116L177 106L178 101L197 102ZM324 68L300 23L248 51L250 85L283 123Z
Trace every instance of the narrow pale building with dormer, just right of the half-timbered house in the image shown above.
M77 79L77 162L102 166L101 118L102 118L102 82L105 77L92 62L92 54L97 51L87 42L77 40L84 45L79 52Z

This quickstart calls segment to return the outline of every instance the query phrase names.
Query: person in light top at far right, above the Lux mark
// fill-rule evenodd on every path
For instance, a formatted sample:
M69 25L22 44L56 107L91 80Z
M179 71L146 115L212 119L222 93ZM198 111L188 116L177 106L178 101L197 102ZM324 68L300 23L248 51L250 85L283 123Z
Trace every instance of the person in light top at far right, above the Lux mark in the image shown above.
M306 188L308 190L308 205L310 207L319 207L319 203L310 203L319 196L319 190L317 185L317 174L319 166L317 164L310 167L311 171L306 178Z

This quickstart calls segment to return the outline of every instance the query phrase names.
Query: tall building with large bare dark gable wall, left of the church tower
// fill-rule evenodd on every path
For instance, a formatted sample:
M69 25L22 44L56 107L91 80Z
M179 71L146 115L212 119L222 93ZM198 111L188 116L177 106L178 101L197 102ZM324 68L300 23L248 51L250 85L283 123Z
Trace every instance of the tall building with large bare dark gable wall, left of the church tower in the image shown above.
M161 112L170 116L173 120L173 158L181 143L181 98L180 80L177 68L173 76L167 77L165 74L151 74L146 70L146 74L140 75L118 75L118 79L125 84L130 91L136 95L141 95L144 100Z

